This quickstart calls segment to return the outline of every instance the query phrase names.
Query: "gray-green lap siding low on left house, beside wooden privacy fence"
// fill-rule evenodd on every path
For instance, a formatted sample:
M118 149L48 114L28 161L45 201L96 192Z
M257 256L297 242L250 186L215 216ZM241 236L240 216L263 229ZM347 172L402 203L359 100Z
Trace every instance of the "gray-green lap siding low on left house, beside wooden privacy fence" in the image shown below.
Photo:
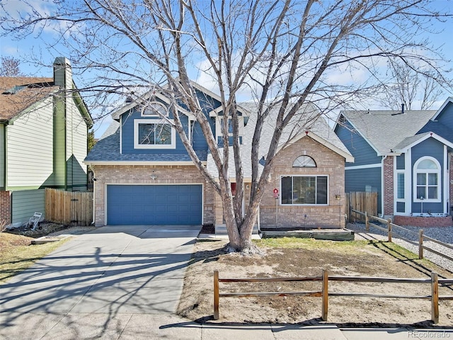
M45 189L13 191L11 222L26 222L35 212L45 213Z

